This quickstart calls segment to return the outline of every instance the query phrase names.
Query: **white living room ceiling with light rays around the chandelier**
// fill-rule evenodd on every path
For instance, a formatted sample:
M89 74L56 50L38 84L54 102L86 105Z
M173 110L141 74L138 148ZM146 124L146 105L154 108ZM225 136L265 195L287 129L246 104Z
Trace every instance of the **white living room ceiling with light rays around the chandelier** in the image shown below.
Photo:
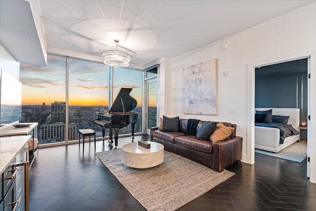
M139 65L175 58L315 1L39 0L48 46L101 56L118 39Z

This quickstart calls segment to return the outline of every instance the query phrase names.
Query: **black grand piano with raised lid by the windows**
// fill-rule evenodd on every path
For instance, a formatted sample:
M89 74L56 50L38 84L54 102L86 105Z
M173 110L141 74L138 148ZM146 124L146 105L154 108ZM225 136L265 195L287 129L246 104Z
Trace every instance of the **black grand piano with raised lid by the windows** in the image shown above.
M118 96L114 100L109 113L98 113L98 118L93 123L102 128L102 137L105 136L105 128L109 128L110 142L113 143L113 131L115 146L118 146L118 130L131 124L132 137L134 138L134 127L137 123L138 113L130 112L136 108L137 101L129 95L132 88L120 88Z

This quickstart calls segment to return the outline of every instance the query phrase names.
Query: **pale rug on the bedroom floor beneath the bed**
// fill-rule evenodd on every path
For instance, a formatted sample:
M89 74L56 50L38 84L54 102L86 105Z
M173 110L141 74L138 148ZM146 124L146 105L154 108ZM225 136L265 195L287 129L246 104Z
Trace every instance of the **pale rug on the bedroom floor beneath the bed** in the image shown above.
M255 149L255 153L269 155L272 157L281 158L288 161L294 161L296 163L302 163L304 159L307 157L307 144L295 142L277 153L268 152L260 149Z

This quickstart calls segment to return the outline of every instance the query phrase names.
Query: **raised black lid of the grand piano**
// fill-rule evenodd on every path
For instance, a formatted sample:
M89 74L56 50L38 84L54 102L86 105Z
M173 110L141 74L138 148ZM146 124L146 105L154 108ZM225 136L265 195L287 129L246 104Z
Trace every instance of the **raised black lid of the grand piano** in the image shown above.
M124 112L123 106L125 108L125 112L132 111L137 106L137 101L129 95L132 91L132 88L120 88L117 97L115 98L109 113L113 112ZM122 105L122 102L124 105Z

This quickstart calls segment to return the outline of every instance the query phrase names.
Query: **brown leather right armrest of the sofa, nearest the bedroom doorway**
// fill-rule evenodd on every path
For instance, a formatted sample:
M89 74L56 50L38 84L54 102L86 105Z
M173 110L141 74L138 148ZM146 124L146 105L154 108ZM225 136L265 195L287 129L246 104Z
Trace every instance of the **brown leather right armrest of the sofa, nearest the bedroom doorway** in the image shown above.
M222 171L241 160L242 137L212 143L213 169Z

